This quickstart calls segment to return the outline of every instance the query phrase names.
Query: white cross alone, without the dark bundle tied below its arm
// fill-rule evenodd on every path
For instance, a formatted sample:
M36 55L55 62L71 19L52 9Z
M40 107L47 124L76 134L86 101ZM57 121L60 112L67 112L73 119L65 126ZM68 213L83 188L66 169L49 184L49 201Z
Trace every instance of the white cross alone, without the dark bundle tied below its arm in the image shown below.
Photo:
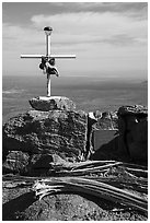
M76 55L51 55L50 54L50 34L53 28L47 26L44 28L45 34L46 34L46 55L21 55L21 58L26 58L26 59L35 59L35 58L45 58L45 59L50 59L50 58L57 58L57 59L73 59L76 58ZM50 94L50 74L47 73L47 96L51 96Z

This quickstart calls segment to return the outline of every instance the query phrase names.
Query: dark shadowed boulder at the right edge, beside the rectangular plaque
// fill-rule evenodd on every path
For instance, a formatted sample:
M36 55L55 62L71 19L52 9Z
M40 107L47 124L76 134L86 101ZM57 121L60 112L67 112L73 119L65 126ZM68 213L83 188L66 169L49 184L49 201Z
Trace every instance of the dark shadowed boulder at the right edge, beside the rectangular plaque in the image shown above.
M120 151L126 149L135 162L148 161L148 108L141 105L123 106L118 109Z

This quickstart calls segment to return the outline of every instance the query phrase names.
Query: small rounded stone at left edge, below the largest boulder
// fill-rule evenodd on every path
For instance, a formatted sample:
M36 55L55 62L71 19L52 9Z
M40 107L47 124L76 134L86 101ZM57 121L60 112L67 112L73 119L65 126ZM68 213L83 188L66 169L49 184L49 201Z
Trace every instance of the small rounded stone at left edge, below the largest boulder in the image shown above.
M26 174L30 155L22 151L10 151L2 164L3 174Z

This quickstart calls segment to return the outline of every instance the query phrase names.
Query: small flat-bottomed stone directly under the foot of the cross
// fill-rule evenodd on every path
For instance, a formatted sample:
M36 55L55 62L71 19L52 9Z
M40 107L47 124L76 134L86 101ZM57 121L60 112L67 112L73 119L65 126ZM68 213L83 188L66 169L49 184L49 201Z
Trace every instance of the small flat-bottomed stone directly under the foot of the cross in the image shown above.
M74 103L68 97L50 96L50 97L34 97L30 99L31 106L36 110L76 110Z

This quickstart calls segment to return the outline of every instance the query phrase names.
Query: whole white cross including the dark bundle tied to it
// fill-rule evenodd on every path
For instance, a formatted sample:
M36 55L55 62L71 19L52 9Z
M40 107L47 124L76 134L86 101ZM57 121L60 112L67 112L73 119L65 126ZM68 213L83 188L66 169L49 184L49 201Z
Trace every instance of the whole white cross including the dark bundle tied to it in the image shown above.
M21 58L41 58L42 63L39 68L47 74L47 96L51 96L50 93L50 75L56 74L58 77L58 70L55 67L55 58L57 59L72 59L76 55L51 55L50 54L50 34L53 28L47 26L44 28L46 34L46 55L21 55Z

